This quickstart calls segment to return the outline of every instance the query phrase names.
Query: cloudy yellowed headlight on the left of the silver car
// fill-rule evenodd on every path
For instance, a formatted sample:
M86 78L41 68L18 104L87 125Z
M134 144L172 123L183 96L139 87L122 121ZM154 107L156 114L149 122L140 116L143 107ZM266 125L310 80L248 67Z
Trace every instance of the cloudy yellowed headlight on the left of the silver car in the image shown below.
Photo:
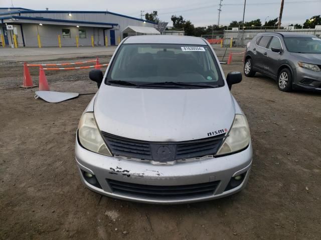
M81 145L90 151L112 156L97 127L94 113L85 112L79 121L78 137Z

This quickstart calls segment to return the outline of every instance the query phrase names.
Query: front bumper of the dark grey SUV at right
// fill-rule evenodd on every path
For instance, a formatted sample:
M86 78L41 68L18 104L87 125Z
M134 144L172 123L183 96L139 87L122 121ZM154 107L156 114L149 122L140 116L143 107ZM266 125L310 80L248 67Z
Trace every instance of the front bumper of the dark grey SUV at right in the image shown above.
M294 88L321 91L321 71L312 71L303 67L295 69Z

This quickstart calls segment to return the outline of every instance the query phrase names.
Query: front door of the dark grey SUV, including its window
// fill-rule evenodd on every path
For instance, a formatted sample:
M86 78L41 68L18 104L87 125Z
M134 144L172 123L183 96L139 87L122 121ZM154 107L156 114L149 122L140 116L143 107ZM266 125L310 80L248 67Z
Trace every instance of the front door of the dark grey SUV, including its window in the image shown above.
M272 47L276 48L282 48L282 44L280 41L280 38L277 36L273 36L269 45L268 45L268 50L266 51L266 65L265 65L265 71L273 76L274 78L277 77L277 70L278 70L278 65L279 65L279 59L281 57L282 52L275 52L272 51Z

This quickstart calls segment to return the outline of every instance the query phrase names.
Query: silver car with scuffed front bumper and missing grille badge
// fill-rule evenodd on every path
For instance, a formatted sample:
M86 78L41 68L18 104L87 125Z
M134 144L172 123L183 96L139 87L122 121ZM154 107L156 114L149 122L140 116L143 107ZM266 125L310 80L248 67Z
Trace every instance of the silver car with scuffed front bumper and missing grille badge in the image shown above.
M76 162L98 193L148 203L210 200L245 187L252 163L247 119L199 37L125 38L82 114Z

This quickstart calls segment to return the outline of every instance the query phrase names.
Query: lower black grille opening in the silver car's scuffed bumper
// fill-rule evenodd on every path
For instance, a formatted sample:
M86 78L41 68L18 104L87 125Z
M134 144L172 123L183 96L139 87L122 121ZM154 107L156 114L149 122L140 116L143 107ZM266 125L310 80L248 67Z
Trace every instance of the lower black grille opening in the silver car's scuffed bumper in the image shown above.
M184 199L213 195L220 181L157 186L106 179L113 193L148 199Z

